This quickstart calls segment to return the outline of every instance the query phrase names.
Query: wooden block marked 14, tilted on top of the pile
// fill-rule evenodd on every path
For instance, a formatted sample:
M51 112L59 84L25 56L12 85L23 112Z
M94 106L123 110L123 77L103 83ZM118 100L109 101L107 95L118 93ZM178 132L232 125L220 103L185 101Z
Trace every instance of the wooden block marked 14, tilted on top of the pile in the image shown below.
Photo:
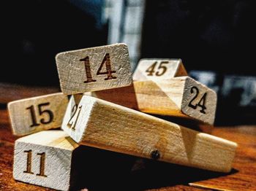
M64 94L124 87L132 83L126 44L112 44L56 55L61 90Z

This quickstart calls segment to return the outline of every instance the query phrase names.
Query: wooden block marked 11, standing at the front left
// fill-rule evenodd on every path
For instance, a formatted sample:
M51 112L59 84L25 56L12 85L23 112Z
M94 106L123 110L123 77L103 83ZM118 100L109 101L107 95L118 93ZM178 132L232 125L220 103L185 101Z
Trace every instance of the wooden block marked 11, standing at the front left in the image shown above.
M72 187L72 157L78 144L63 130L43 130L15 141L15 180L69 190Z

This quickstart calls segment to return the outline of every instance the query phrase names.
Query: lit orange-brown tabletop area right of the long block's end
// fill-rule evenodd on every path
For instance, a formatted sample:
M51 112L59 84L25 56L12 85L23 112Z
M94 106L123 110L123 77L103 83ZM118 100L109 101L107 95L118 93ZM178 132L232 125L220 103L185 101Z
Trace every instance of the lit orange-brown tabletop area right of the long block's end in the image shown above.
M233 173L189 185L213 190L256 190L256 126L218 127L213 134L238 142Z

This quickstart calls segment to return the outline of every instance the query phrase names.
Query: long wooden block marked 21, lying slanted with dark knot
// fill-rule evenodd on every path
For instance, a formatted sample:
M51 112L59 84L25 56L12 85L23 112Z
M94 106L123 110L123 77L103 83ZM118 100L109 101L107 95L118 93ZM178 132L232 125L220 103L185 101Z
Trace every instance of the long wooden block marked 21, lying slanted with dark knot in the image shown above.
M70 99L61 128L79 144L211 171L230 171L237 146L87 95Z

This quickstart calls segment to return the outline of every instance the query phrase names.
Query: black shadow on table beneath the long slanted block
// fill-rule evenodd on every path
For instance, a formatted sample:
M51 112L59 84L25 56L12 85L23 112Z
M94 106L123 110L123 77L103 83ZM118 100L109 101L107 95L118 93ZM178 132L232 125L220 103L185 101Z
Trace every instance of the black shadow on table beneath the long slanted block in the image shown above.
M228 175L86 146L79 147L73 158L78 182L72 190L146 190Z

